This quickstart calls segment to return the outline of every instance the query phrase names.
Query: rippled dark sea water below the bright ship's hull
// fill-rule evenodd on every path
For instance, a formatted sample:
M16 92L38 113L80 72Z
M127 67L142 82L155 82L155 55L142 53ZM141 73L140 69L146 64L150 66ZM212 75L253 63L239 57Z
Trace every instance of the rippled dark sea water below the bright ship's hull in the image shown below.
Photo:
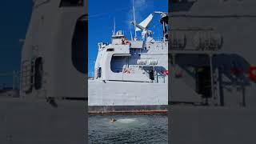
M117 119L110 122L111 118ZM152 115L91 115L90 143L168 143L168 117Z

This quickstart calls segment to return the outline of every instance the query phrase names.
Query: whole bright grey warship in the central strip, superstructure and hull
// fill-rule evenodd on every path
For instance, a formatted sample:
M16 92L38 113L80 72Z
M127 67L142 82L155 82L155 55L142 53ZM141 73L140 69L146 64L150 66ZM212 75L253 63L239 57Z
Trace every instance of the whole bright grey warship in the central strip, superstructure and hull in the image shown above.
M162 23L160 39L154 39L149 30L155 14L160 15ZM109 44L98 43L94 79L88 80L90 113L166 112L168 14L154 11L144 21L131 24L135 31L141 31L142 38L135 35L128 40L118 30Z

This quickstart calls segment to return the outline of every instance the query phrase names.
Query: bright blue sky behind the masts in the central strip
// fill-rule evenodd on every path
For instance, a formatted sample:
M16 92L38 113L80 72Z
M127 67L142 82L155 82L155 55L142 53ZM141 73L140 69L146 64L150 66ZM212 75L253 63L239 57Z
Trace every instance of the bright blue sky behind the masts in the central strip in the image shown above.
M94 72L94 62L98 53L98 42L110 42L114 27L116 30L124 30L126 38L130 39L130 30L134 34L134 27L130 25L133 20L132 0L109 0L97 1L88 0L89 19L89 44L88 44L88 73L92 76ZM154 11L168 11L168 0L134 0L136 21L142 22ZM162 36L162 27L157 14L151 22L151 29L154 31L153 37ZM138 36L140 34L138 33Z

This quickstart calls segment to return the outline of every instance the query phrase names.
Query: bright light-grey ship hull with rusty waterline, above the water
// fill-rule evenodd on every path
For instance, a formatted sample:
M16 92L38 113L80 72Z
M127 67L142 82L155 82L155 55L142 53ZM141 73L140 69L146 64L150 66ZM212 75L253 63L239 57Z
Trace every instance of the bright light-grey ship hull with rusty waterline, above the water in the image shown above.
M89 113L164 113L167 83L88 81Z

